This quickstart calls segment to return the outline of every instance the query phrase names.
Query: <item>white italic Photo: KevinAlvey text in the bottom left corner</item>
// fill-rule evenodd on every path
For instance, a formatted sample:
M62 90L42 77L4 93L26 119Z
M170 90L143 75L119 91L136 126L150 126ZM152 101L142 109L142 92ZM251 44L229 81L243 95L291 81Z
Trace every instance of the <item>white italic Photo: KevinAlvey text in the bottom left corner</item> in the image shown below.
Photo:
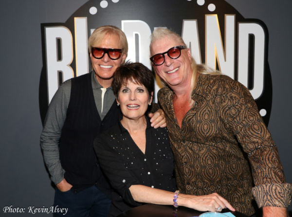
M10 206L3 207L3 213L31 213L31 214L62 213L63 215L66 215L67 212L68 212L68 208L60 208L58 206L50 206L50 207L28 206L25 208L25 207L13 207L13 205L10 205Z

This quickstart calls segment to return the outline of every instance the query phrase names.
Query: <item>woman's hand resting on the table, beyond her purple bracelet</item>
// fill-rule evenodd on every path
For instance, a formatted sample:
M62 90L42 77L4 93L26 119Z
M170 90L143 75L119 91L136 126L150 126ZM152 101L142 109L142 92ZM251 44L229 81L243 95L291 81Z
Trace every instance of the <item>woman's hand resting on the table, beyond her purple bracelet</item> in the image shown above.
M225 208L235 211L232 205L217 193L203 196L179 194L178 202L181 206L186 206L201 212L221 212Z

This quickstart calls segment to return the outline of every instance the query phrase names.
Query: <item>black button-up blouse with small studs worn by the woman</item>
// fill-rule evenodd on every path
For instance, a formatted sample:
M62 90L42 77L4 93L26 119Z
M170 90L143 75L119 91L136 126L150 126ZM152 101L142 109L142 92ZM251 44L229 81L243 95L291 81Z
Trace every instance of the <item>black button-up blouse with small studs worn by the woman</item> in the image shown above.
M94 150L112 186L110 215L116 216L132 207L134 201L129 187L146 185L174 192L174 161L166 128L153 128L146 117L145 154L134 143L128 130L118 121L94 140Z

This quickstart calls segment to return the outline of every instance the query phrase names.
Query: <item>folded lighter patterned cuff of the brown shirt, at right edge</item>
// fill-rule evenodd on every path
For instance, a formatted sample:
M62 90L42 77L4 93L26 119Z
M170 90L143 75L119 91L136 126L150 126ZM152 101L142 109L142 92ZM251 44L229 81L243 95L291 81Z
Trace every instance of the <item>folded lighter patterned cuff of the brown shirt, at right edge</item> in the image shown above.
M291 205L291 183L258 185L253 187L252 192L259 208L264 206L288 207Z

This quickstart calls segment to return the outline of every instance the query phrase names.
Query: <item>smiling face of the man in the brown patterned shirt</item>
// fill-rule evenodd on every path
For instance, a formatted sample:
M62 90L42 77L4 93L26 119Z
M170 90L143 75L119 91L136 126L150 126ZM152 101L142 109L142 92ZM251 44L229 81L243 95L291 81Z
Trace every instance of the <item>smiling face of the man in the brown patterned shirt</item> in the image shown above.
M178 40L167 36L152 42L150 47L151 56L162 54L170 48L182 45ZM191 84L192 67L189 49L183 49L177 59L164 54L164 63L160 66L153 65L157 75L172 89L176 87L188 87Z

